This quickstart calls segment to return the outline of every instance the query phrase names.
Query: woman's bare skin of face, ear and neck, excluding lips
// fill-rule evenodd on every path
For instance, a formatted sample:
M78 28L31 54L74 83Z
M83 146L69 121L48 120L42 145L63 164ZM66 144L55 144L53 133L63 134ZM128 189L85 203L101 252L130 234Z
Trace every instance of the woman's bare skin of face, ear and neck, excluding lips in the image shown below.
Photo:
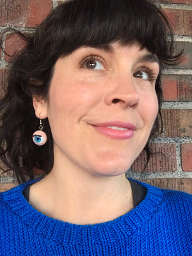
M156 119L158 73L156 56L136 43L81 47L58 59L47 100L33 99L36 116L48 117L54 139L52 171L31 186L33 207L83 225L115 219L133 208L125 171ZM109 121L134 124L134 135L114 139L93 126Z

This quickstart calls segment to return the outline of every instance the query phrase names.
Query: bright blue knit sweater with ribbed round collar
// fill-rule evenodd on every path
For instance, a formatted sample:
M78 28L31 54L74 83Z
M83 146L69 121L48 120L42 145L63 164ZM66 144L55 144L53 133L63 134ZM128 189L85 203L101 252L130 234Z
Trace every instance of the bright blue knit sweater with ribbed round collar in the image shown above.
M192 196L145 183L145 199L113 221L74 225L48 218L22 195L0 193L0 255L192 255Z

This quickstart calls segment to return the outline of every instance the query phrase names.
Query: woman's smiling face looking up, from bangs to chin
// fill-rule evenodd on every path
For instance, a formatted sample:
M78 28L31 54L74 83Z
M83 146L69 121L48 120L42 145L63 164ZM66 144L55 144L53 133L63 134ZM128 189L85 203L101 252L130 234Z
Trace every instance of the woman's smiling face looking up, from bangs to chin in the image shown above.
M127 171L156 119L158 73L156 56L139 44L81 47L60 57L44 103L54 164L102 176Z

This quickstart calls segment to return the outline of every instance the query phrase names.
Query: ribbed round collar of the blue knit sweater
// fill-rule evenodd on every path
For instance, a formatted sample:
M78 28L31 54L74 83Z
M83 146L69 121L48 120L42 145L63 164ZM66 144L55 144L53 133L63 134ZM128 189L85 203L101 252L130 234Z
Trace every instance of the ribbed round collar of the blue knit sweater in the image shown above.
M108 234L112 243L115 242L115 237L118 237L119 234L131 235L147 223L148 219L157 211L163 198L161 189L138 182L147 189L147 195L136 208L113 221L95 225L76 225L49 218L34 209L22 194L29 183L31 182L4 192L4 201L19 218L20 223L23 223L26 227L28 226L36 234L43 235L54 243L61 243L65 246L70 243L84 243L86 237L93 237L93 243L97 243L96 240L99 239L100 241L105 233Z

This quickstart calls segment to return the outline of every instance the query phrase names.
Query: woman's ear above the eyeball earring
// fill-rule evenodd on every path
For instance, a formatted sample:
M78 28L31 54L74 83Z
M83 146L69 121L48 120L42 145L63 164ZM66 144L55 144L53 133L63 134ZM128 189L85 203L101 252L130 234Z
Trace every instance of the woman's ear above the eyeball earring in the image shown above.
M45 119L48 116L47 100L33 97L33 107L35 109L35 115L39 119Z

